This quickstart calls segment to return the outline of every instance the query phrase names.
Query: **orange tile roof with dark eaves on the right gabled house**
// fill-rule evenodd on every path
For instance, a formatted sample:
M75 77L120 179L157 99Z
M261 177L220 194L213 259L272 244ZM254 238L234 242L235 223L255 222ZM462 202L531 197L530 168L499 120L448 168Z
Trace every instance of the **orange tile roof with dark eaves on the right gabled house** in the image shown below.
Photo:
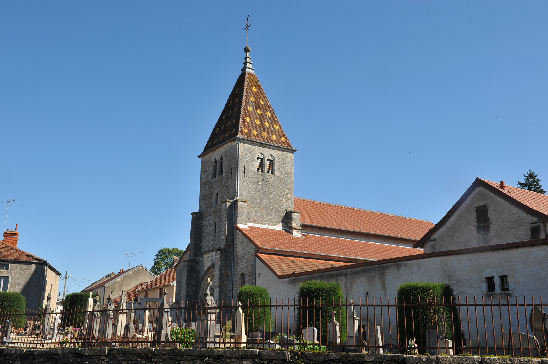
M542 193L528 191L509 185L506 185L506 191L504 191L500 188L500 183L476 177L470 187L468 187L466 192L464 192L463 196L460 196L458 201L455 202L455 204L449 209L447 214L445 214L435 226L433 226L428 232L426 232L424 236L421 237L419 241L413 245L413 247L418 248L419 246L423 245L424 242L426 242L426 240L429 239L434 232L436 232L441 226L443 226L443 224L446 223L450 216L453 215L456 209L458 209L459 206L465 201L465 199L470 196L470 193L472 193L472 191L475 190L477 186L485 187L487 190L495 193L495 195L498 195L499 197L505 199L514 206L532 215L538 216L545 221L548 221L548 196L543 195Z

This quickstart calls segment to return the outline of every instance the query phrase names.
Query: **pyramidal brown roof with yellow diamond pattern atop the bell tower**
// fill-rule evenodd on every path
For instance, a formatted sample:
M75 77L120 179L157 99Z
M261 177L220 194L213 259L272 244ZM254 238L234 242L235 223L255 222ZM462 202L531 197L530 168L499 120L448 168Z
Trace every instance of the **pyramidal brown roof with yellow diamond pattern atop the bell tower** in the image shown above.
M202 152L241 137L293 149L269 98L252 72L242 72Z

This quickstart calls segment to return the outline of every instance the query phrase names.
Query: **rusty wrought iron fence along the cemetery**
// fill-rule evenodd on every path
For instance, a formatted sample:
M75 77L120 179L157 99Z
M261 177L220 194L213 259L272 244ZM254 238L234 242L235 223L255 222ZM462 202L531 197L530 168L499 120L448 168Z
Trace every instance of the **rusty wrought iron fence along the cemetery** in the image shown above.
M274 299L0 310L10 347L259 347L297 351L546 356L542 297ZM96 306L98 307L98 306ZM547 310L548 311L548 310Z

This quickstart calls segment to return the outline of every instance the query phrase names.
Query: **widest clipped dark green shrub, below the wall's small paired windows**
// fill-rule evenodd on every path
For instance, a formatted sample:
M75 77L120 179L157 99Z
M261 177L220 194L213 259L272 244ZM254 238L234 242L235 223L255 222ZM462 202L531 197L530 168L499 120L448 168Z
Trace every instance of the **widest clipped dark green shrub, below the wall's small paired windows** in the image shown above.
M455 348L461 345L466 346L467 342L464 332L462 332L458 306L453 306L453 312L450 306L443 306L443 302L445 304L457 303L451 285L433 282L404 283L398 288L398 304L403 304L404 299L405 304L413 302L413 305L418 304L420 299L421 307L420 309L419 307L398 308L399 345L406 346L406 338L408 342L413 340L414 327L415 343L418 347L426 346L426 330L436 329L441 336L444 334L447 339L452 340ZM426 303L436 303L439 306L423 306ZM462 343L463 341L464 343ZM431 344L432 347L436 345L436 343ZM425 350L420 349L419 352L424 353Z

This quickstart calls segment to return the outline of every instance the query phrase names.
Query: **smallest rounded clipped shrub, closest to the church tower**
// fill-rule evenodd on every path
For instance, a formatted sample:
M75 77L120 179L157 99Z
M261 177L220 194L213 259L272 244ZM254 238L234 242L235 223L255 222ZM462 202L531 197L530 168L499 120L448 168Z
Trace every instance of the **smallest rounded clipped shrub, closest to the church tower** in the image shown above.
M271 304L269 290L261 286L244 285L239 289L237 299L244 307L247 331L259 331L259 326L264 327L265 331L271 330L272 313L270 307L264 307L265 304Z

